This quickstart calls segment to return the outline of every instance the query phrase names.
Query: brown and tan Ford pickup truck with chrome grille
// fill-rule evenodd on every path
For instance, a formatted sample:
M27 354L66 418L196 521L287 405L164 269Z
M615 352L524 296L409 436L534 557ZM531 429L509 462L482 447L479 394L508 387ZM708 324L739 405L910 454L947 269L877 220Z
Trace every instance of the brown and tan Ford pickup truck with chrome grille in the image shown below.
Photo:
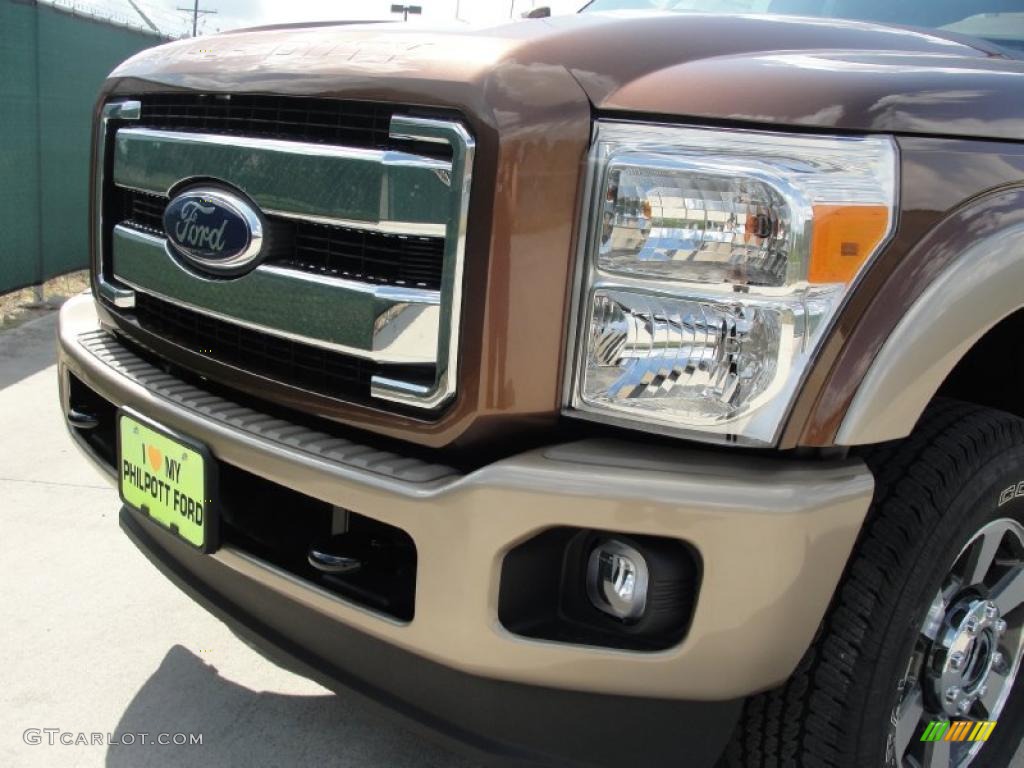
M247 642L476 755L1005 768L1020 11L144 51L96 109L72 436Z

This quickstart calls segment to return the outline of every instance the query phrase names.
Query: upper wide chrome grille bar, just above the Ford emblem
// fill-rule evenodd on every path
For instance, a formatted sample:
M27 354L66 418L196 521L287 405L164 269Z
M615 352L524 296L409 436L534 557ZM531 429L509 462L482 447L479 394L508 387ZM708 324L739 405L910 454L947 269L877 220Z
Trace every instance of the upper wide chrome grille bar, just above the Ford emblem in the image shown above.
M436 233L449 216L452 164L403 152L125 128L115 156L115 183L153 195L216 178L266 213L402 234Z

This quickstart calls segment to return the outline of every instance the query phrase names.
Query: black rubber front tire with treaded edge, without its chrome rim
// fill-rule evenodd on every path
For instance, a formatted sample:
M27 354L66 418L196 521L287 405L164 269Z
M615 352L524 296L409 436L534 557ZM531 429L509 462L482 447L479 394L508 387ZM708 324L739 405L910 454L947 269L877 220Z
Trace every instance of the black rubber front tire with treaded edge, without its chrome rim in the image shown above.
M724 768L887 766L897 683L939 585L984 525L1024 523L1024 499L999 504L1024 480L1015 416L937 400L910 437L861 456L874 499L833 605L793 677L746 701ZM1024 735L1021 677L971 768L1012 765Z

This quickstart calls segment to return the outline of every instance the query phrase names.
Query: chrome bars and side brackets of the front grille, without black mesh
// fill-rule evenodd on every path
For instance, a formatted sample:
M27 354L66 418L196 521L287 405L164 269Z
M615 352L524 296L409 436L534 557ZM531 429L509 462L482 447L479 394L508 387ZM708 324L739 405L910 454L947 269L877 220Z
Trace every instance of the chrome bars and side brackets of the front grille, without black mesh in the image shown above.
M372 377L370 400L436 410L455 395L475 154L461 123L391 116L392 140L437 145L439 154L451 154L445 160L433 153L157 130L134 122L144 113L140 101L106 104L97 138L96 288L116 311L130 314L136 293L144 293L250 331L387 366L388 375ZM443 238L439 290L317 273L287 260L209 280L181 264L162 232L121 223L123 211L112 211L106 199L116 188L168 196L201 179L237 187L264 215L299 226ZM411 367L408 379L402 365ZM422 376L425 365L434 370L430 384Z

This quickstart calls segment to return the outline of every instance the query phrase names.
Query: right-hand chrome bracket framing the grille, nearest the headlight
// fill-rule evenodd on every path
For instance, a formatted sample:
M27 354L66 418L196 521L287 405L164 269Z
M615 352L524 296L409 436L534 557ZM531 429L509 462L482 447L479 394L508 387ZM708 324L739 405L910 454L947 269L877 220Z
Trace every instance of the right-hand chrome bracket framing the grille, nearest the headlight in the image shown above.
M473 182L476 142L461 123L426 118L393 116L393 138L446 142L452 147L451 210L444 241L444 268L441 274L441 315L434 385L424 391L419 385L375 376L371 379L372 397L412 406L436 409L455 396L459 374L459 332L462 324L463 271L466 260L466 231L469 222L469 199Z

